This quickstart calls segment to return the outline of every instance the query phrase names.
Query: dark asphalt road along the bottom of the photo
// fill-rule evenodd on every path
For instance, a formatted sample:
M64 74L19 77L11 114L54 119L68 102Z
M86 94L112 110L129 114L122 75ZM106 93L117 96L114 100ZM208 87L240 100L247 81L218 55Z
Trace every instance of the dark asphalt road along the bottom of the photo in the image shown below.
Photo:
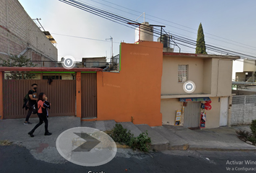
M64 164L50 164L36 160L24 147L0 146L0 172L105 172L105 173L150 173L150 172L245 172L238 168L255 168L251 165L231 165L227 161L256 161L255 152L224 152L224 151L163 151L150 154L137 154L130 157L117 155L108 164L100 167L82 167L67 161ZM244 163L244 162L243 162ZM227 171L236 168L236 170ZM127 169L127 170L126 170ZM256 171L247 171L256 172Z

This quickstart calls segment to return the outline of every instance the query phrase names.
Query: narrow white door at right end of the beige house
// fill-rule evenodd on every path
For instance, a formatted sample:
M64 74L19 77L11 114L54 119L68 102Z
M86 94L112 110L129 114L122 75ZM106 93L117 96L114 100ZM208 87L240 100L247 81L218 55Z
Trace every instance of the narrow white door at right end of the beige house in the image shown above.
M221 97L220 126L228 125L229 97Z

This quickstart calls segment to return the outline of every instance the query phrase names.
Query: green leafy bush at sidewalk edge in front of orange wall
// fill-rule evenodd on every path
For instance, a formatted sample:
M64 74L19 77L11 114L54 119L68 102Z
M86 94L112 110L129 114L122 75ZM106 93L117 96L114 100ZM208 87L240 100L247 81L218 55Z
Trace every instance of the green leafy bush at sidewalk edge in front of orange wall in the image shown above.
M140 151L148 152L150 150L151 138L148 137L148 132L140 133L134 137L130 130L123 128L121 124L116 124L115 127L108 132L108 135L118 143L125 143L132 149L140 149Z

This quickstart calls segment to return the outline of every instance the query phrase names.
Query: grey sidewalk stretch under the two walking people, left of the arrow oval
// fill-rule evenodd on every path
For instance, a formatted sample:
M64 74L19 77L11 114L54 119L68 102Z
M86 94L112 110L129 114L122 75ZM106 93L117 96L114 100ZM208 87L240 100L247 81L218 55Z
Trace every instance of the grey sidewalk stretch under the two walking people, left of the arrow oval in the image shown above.
M80 127L79 117L49 117L48 130L51 136L44 136L44 124L35 130L35 137L27 133L38 123L38 117L30 118L32 125L23 125L25 119L0 120L0 141L8 140L30 150L35 159L61 164L66 160L56 150L56 138L69 128Z

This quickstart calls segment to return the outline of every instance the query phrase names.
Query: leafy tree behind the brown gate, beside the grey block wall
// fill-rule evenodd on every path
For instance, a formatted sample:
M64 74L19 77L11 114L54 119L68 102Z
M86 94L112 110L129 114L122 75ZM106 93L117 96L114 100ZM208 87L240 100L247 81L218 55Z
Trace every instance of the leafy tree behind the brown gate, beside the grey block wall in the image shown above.
M9 56L7 60L0 58L2 63L0 66L8 67L35 67L35 65L30 62L30 59L26 56ZM6 79L34 79L35 74L31 74L30 71L10 71L6 74Z

